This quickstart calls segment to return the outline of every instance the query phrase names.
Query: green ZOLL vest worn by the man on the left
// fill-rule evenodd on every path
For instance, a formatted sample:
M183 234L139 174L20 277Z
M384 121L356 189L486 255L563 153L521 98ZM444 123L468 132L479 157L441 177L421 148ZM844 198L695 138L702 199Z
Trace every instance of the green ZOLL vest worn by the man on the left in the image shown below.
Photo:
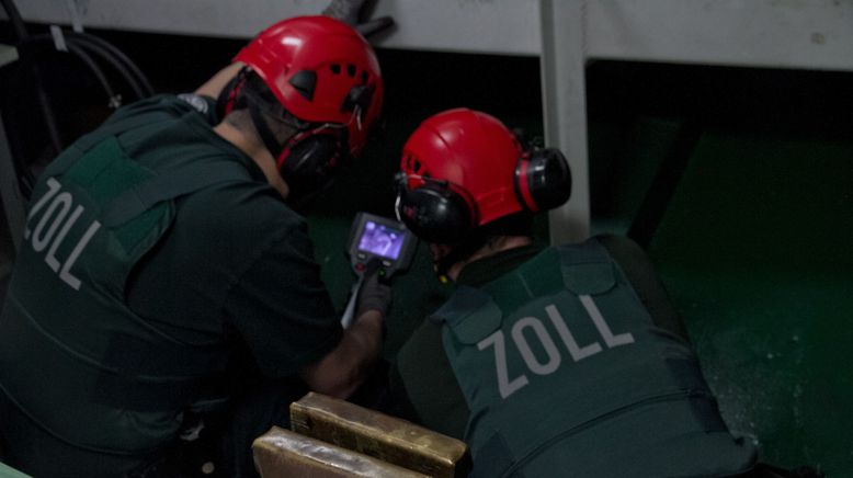
M107 123L44 171L0 316L0 391L57 439L122 455L172 439L223 360L135 315L128 274L169 228L174 198L249 178L204 146L158 174L115 136L146 127L136 123Z

